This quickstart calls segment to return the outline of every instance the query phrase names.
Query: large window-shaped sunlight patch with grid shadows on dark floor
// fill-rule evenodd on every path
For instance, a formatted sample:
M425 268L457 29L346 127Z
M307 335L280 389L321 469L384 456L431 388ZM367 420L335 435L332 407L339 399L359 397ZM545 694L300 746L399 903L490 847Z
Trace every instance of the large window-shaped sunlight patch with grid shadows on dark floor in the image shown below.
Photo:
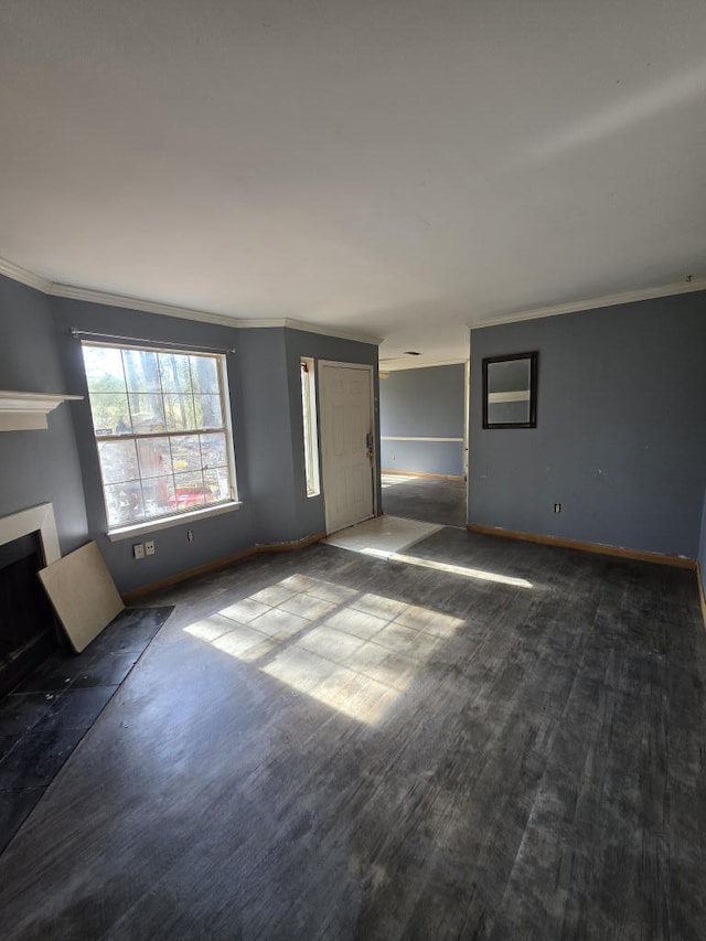
M374 725L462 623L431 608L292 575L184 630Z

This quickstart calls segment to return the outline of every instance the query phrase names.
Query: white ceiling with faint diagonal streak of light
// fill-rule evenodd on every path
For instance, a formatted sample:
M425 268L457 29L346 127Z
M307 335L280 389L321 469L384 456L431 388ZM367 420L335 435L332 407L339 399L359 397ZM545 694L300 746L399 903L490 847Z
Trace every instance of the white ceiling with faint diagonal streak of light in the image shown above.
M393 365L706 274L705 150L704 0L0 3L0 257Z

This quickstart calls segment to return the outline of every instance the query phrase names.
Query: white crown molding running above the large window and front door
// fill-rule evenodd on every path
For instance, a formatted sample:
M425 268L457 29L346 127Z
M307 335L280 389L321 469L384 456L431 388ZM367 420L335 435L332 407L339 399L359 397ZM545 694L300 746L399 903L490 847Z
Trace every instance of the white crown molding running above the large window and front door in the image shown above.
M114 295L109 291L81 288L77 285L63 285L58 281L51 281L49 278L43 278L41 275L35 275L33 271L22 268L13 261L8 261L6 258L0 258L0 275L4 275L13 281L20 281L30 288L35 288L38 291L42 291L42 293L50 295L51 297L82 300L88 303L100 303L106 307L121 307L128 310L139 310L143 313L159 313L163 317L178 317L182 320L196 320L202 323L214 323L218 327L231 327L235 329L286 327L290 330L303 330L307 333L319 333L322 336L334 336L339 340L353 340L359 343L368 343L374 346L378 346L383 342L379 336L372 336L367 333L336 330L334 328L308 323L303 320L295 320L292 318L244 320L235 317L227 317L224 313L210 313L205 310L194 310L188 307L179 307L178 304L161 303L159 301L128 297L127 295Z

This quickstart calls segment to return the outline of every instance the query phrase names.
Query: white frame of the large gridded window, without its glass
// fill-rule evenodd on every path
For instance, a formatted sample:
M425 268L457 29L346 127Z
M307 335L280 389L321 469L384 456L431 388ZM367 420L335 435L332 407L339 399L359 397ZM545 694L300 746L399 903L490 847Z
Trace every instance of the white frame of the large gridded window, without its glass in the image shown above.
M135 350L138 352L148 352L148 353L167 353L173 355L181 356L208 356L213 359L216 363L217 376L218 376L218 392L221 398L221 409L223 414L223 426L218 428L195 428L189 431L157 431L157 432L146 432L139 434L132 431L131 434L121 434L121 435L96 435L94 428L94 440L96 443L96 457L98 458L98 467L100 473L100 490L103 493L105 511L106 511L106 520L108 518L108 506L106 500L106 491L104 488L103 474L100 471L100 458L98 457L98 447L100 443L105 441L127 441L127 440L145 440L147 438L172 438L180 437L184 434L207 434L210 431L221 431L225 434L226 439L226 458L227 458L227 467L228 467L228 488L229 488L229 499L225 501L220 501L218 503L212 503L205 506L196 506L190 510L182 510L175 513L161 514L156 515L150 518L140 520L138 522L128 523L125 526L109 526L106 531L106 535L110 539L110 542L120 542L121 539L128 539L133 536L139 535L140 533L151 533L157 532L159 530L167 530L172 526L178 526L180 524L194 522L197 520L205 518L207 516L217 516L223 513L229 513L234 510L238 510L243 504L238 500L237 494L237 479L235 472L235 450L233 445L233 423L231 417L231 395L228 389L228 375L227 375L227 363L226 355L224 353L218 352L206 352L200 349L190 349L189 346L158 346L158 345L146 345L136 341L135 343L122 342L122 343L111 343L107 341L99 340L83 340L82 346L94 346L99 349L113 349L113 350ZM126 388L127 391L127 388ZM164 394L164 393L160 393ZM140 478L141 481L141 478Z

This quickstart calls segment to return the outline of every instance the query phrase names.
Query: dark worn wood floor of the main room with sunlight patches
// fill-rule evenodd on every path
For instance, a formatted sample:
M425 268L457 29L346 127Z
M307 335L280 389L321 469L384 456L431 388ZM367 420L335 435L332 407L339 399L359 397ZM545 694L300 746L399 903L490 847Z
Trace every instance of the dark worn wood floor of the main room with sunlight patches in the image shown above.
M2 937L703 941L693 573L453 528L406 555L156 596L0 856Z

